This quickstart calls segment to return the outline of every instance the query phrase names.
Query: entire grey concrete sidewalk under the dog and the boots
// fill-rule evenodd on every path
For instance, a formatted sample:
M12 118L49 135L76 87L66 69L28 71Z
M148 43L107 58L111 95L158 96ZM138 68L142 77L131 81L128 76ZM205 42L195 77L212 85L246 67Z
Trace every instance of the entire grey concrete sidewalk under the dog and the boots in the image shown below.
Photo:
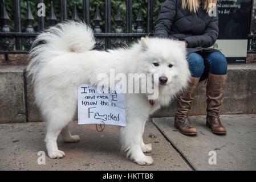
M147 155L152 166L138 166L120 154L119 130L106 126L102 133L95 125L71 124L79 143L64 143L59 137L63 159L37 163L44 146L44 122L0 125L0 170L256 170L256 115L222 115L226 136L217 136L205 127L205 116L192 117L197 137L186 137L173 128L173 118L154 118L147 123L145 143L152 143ZM217 164L210 165L209 151L216 151Z

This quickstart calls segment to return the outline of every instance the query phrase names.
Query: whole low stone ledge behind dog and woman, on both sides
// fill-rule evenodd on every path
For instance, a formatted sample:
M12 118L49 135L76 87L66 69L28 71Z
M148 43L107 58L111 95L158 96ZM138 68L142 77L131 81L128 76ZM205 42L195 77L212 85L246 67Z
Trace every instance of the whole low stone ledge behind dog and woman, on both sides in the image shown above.
M229 65L222 114L256 114L256 64ZM0 123L38 122L42 117L34 104L31 78L23 66L0 67ZM192 105L192 115L206 114L205 84L201 82ZM176 101L153 117L171 117Z

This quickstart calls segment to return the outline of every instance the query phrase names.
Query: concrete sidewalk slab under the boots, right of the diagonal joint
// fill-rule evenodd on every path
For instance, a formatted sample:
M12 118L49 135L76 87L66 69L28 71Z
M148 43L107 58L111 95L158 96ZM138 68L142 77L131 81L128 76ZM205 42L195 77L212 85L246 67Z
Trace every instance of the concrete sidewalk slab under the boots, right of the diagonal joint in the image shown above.
M256 170L256 115L222 115L226 135L215 135L205 126L205 116L190 117L197 128L196 137L181 135L174 118L153 122L196 170ZM210 152L210 153L209 153ZM216 165L209 158L216 154Z

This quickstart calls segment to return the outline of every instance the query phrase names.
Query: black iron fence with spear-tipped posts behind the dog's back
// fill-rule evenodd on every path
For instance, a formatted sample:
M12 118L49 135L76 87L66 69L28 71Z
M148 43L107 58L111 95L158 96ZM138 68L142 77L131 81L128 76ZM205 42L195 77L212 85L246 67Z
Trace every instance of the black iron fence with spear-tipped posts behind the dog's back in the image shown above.
M67 20L67 0L60 1L60 20ZM0 54L4 54L6 60L8 60L8 54L11 53L28 53L33 40L35 39L38 32L44 30L46 21L50 25L56 24L58 21L55 15L54 3L50 3L50 11L46 12L47 17L39 16L38 18L38 32L35 32L33 27L34 16L31 13L30 1L27 1L27 15L26 29L21 31L21 1L13 0L13 19L10 19L9 13L7 12L5 1L1 2L1 31L0 31ZM37 3L47 3L44 0L37 0ZM141 13L142 7L139 6L136 22L132 21L132 5L133 0L126 1L126 15L125 23L126 30L123 30L121 23L124 21L120 13L120 4L117 7L115 15L115 22L111 22L111 0L104 0L104 19L101 18L100 11L102 7L99 7L99 3L96 4L95 12L90 12L90 1L83 0L83 17L80 19L78 16L78 9L74 2L73 15L71 20L80 21L83 20L87 24L90 24L90 14L94 13L94 35L96 38L96 49L115 48L124 46L128 42L132 42L141 36L152 35L153 33L153 0L148 0L147 7L147 28L144 28L144 19ZM37 16L37 15L36 15ZM10 31L10 21L14 21L14 31ZM100 23L104 21L104 30L101 30ZM115 31L111 32L111 26L115 26ZM133 31L133 23L136 23L136 30Z

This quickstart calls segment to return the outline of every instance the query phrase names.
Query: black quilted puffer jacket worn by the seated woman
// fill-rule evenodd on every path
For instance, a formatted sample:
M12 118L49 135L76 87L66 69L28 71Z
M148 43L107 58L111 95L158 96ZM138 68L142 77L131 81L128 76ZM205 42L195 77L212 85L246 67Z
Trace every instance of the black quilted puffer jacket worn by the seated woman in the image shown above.
M202 6L197 13L182 9L182 0L166 0L157 19L155 36L186 40L187 52L214 52L218 38L218 15L209 16Z

